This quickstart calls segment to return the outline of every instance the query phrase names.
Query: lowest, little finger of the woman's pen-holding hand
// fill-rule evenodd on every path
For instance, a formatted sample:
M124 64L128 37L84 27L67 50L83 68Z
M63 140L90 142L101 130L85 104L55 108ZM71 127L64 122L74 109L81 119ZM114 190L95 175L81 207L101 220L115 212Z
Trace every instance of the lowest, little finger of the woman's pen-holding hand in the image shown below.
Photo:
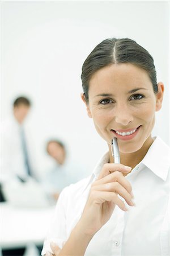
M106 192L106 191L95 191L94 192L94 200L97 204L103 204L105 201L112 201L116 204L120 209L125 212L128 210L125 206L125 203L117 196L114 192Z

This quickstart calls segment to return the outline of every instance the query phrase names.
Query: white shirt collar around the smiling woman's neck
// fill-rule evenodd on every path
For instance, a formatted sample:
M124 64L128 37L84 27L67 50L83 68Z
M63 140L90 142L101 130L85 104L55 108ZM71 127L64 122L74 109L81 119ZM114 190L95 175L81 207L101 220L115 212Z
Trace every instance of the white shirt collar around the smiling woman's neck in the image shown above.
M151 144L145 157L137 166L142 166L142 164L144 164L147 168L154 172L156 176L165 181L167 179L170 167L169 154L169 146L165 144L160 137L154 137L154 142ZM96 164L91 179L94 179L94 176L99 176L101 168L105 163L109 163L108 152L105 153L100 161Z

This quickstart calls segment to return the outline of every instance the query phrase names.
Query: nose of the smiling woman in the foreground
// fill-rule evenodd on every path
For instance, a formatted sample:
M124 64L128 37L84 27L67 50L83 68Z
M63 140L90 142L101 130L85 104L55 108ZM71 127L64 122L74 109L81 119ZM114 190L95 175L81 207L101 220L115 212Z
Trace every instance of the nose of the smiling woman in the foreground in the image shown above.
M126 104L117 105L115 114L115 121L121 125L128 126L133 121L133 115L129 106Z

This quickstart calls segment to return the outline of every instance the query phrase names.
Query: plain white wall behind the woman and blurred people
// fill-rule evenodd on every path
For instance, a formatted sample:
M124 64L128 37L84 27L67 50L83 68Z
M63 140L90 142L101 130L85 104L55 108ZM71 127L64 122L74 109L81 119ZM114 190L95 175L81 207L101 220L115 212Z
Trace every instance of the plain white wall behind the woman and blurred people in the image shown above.
M87 174L107 150L80 100L80 73L96 44L113 36L136 40L154 57L165 97L153 134L168 143L168 2L3 1L1 9L2 119L15 97L31 98L39 171L48 164L50 137L63 139Z

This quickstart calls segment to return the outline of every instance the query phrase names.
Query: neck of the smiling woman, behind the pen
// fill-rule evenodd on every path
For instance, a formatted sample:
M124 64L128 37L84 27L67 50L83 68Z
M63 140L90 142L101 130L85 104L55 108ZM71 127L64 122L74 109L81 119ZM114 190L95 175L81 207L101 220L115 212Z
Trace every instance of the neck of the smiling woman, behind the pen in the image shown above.
M150 136L147 138L143 146L135 152L125 154L120 152L120 162L125 166L130 166L132 169L137 166L139 162L144 158L154 139ZM111 148L109 147L109 163L113 163L113 157L111 154Z

